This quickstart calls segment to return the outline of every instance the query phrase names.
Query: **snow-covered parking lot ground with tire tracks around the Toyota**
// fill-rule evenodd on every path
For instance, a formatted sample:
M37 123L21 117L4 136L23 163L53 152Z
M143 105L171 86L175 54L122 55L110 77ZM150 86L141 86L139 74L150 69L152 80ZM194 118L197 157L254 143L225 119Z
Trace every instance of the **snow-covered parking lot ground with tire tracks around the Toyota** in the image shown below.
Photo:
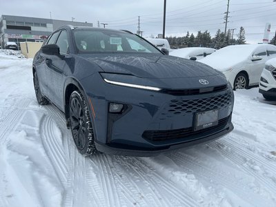
M32 59L0 50L0 206L276 206L276 102L235 92L235 130L158 157L82 157Z

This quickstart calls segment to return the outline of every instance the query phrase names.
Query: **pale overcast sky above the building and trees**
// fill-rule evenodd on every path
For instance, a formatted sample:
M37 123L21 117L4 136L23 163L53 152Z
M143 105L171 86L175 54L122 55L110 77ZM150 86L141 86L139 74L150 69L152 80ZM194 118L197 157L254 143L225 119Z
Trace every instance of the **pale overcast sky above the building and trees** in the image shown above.
M163 0L1 0L0 14L24 17L88 21L97 26L108 23L106 28L137 31L138 16L143 37L162 33ZM167 0L166 36L182 36L187 31L208 30L213 37L218 29L224 31L224 12L227 0ZM264 27L271 23L270 39L276 29L276 2L273 0L230 0L228 28L239 32L246 30L247 43L262 42ZM102 27L102 25L100 25Z

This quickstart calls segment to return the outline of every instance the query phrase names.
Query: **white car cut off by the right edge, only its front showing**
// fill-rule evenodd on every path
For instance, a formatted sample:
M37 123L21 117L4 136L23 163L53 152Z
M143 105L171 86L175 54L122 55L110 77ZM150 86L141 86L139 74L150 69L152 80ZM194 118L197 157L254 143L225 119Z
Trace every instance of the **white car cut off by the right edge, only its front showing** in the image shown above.
M267 100L276 100L276 58L266 61L259 81L259 92Z

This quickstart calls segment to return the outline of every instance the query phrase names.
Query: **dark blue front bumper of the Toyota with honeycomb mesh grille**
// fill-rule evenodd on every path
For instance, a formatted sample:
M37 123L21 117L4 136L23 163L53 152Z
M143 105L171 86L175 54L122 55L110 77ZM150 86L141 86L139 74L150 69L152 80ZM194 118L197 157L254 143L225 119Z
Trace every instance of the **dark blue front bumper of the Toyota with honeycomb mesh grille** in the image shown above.
M87 92L87 96L94 108L94 112L90 108L90 115L94 120L95 144L101 152L132 156L156 155L218 139L233 130L233 90L230 86L226 90L200 95L170 95L115 86L101 79L95 79L92 83L93 92ZM206 103L204 109L201 109L201 101ZM108 112L110 102L125 104L130 106L130 110L114 119ZM219 120L226 120L217 128L172 139L157 140L144 136L146 131L193 128L195 112L214 108L219 109Z

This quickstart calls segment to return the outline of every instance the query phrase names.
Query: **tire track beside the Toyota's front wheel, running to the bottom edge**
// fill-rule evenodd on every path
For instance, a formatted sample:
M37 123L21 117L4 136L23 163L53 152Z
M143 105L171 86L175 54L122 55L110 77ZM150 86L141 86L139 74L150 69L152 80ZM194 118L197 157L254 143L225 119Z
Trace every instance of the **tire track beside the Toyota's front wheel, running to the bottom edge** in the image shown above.
M68 168L63 206L83 206L83 204L101 206L101 201L104 202L105 198L98 198L102 194L99 183L95 179L93 170L87 166L89 158L81 156L77 151L71 131L66 128L65 115L53 105L46 106L46 110L57 120L57 125L62 133L64 159Z

